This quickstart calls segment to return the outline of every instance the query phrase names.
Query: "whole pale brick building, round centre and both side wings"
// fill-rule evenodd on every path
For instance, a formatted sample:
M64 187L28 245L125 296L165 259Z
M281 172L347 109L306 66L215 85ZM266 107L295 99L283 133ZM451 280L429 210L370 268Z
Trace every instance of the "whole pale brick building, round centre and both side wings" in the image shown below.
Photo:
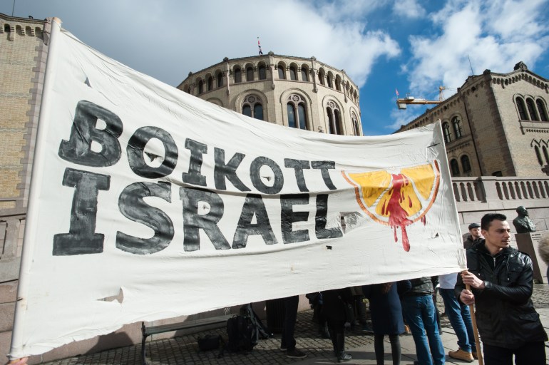
M48 20L0 14L0 354L11 342L49 29ZM258 123L362 135L358 86L314 57L270 52L225 58L189 73L177 87ZM528 208L539 231L548 230L548 100L549 81L518 63L509 73L470 76L454 96L397 131L441 120L462 232L485 212L513 220L518 205ZM130 324L35 356L29 364L140 339L140 324Z

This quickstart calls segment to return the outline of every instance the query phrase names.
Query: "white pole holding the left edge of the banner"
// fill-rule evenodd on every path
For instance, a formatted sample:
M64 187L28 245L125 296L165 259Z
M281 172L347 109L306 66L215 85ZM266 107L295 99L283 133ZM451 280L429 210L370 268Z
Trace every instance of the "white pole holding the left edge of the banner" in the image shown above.
M56 63L58 57L56 55L57 37L61 31L61 19L51 19L51 33L48 39L48 58L46 60L46 71L43 83L42 99L40 104L40 113L38 120L38 132L36 133L36 148L34 150L34 162L31 173L31 187L29 192L29 205L26 213L25 234L23 241L23 252L21 254L21 267L19 269L19 283L17 287L17 300L15 304L15 319L14 329L11 333L11 349L9 351L9 359L11 361L21 359L26 354L23 351L25 339L23 338L23 326L25 324L26 307L29 304L29 282L30 269L33 259L34 245L36 244L38 232L34 225L38 220L39 197L36 196L39 191L38 186L41 183L43 176L43 160L45 153L40 153L44 134L47 133L48 115L50 114L51 102L50 94L53 93L53 81L55 78ZM46 32L44 32L46 35ZM46 41L46 37L44 37ZM38 324L35 324L38 325Z

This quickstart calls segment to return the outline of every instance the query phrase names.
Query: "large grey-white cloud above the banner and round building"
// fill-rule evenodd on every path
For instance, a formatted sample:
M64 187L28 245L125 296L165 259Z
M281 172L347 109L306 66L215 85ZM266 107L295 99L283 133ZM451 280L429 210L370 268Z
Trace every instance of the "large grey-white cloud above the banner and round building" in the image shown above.
M386 31L366 29L365 14L388 2L27 0L15 15L58 16L83 42L173 86L225 56L257 55L260 36L264 53L315 56L361 87L379 58L401 51Z

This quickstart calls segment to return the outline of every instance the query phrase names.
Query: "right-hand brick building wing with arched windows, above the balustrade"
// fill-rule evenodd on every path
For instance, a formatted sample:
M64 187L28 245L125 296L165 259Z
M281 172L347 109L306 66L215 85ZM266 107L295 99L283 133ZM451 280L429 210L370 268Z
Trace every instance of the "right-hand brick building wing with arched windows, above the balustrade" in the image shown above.
M397 132L441 120L453 176L544 177L549 81L522 62L469 76L458 92Z

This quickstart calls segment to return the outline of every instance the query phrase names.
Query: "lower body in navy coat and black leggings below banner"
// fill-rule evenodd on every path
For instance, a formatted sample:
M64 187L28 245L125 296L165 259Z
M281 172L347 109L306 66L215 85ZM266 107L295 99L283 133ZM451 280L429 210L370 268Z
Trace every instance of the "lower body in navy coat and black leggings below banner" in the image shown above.
M364 296L370 302L371 324L374 328L374 350L377 365L384 365L384 338L389 335L393 365L400 365L401 347L399 334L404 332L402 309L396 284L365 285Z

